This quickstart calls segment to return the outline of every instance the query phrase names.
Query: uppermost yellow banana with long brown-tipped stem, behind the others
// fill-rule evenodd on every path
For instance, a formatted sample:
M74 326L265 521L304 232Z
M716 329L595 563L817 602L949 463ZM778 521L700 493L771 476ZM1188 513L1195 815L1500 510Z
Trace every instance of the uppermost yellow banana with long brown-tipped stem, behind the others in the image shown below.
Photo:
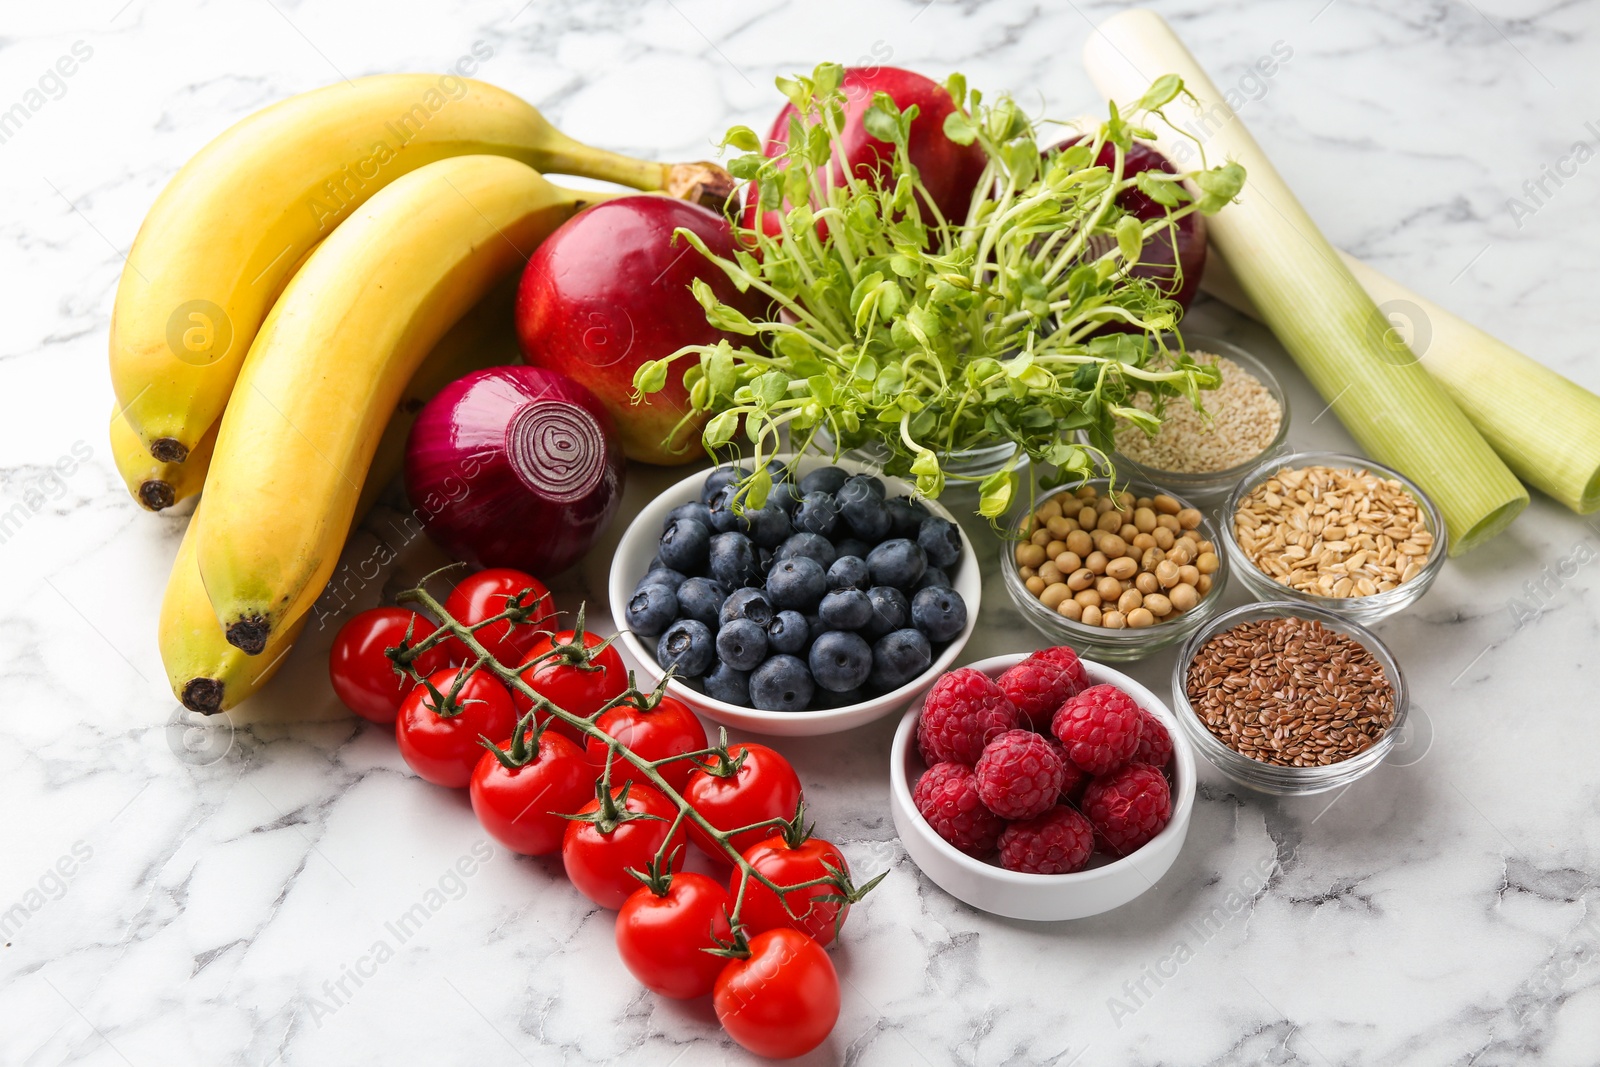
M400 176L478 154L683 198L731 192L717 166L592 149L517 96L454 75L381 74L259 110L166 184L117 286L112 382L150 454L182 462L222 416L296 259Z

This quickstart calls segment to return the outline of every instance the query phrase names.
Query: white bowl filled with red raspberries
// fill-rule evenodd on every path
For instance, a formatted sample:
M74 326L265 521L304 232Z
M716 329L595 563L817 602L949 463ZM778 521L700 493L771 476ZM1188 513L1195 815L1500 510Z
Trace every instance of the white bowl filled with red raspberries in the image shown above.
M1171 709L1066 646L942 675L890 755L907 854L1008 918L1085 918L1139 896L1178 859L1194 797Z

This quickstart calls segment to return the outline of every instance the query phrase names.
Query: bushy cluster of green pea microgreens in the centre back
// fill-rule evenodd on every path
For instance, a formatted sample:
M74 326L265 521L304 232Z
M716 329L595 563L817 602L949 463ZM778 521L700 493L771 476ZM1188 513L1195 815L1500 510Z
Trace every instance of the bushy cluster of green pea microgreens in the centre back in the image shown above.
M1013 99L984 102L952 75L946 90L957 110L944 134L978 144L987 165L966 218L946 219L909 158L918 110L902 112L885 93L862 122L893 144L888 179L835 173L842 77L843 67L821 64L808 78L779 78L805 118L790 123L778 155L762 154L747 126L723 141L741 152L730 173L755 182L776 235L762 232L760 218L755 229L736 224L726 258L677 232L741 293L765 296L768 317L746 317L698 280L707 320L749 341L686 346L642 365L634 379L643 397L666 386L672 363L694 360L683 378L685 421L710 416L702 440L712 454L734 451L742 429L755 459L741 486L746 506L765 501L765 461L781 451L875 445L885 469L915 478L925 496L939 496L949 480L979 480L979 514L998 518L1024 458L1054 467L1056 482L1082 480L1107 461L1118 421L1154 434L1163 398L1200 406L1200 390L1219 376L1181 339L1168 341L1181 315L1170 293L1181 278L1168 288L1131 270L1160 230L1176 242L1179 219L1227 205L1245 173L1237 163L1123 173L1133 141L1154 139L1139 123L1186 93L1179 78L1158 78L1126 115L1112 104L1096 130L1042 155L1038 123ZM1107 144L1115 162L1096 166ZM1117 197L1134 189L1165 216L1141 222L1118 208ZM1107 325L1131 333L1102 333ZM1157 398L1157 413L1133 405L1141 392ZM1018 445L1003 469L949 469L954 453L1002 442Z

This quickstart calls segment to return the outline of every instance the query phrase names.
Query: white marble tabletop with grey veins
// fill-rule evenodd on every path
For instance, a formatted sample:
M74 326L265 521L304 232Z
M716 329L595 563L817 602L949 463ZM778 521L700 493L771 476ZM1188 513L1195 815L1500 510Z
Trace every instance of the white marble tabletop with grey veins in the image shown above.
M0 110L27 106L0 144L0 507L21 515L0 545L3 1064L747 1059L707 1006L627 977L610 913L557 865L493 851L450 873L482 840L472 813L339 713L331 629L307 630L256 725L168 726L155 614L186 518L141 512L107 458L122 254L227 123L341 75L442 70L474 42L493 48L482 77L573 134L698 158L728 123L765 126L773 77L822 58L958 67L1078 114L1098 104L1078 50L1122 5L520 3L0 13ZM1600 139L1600 6L1155 6L1254 98L1245 118L1334 242L1600 387L1600 163L1541 205L1523 189ZM1275 43L1291 59L1243 82ZM74 53L72 77L40 85ZM1259 328L1214 306L1197 323L1278 360L1294 443L1349 446ZM629 506L662 480L635 472ZM834 952L843 1016L811 1062L1600 1061L1597 544L1600 525L1536 499L1381 624L1416 689L1398 758L1304 801L1208 773L1171 873L1093 920L997 920L922 878L886 809L893 720L784 742L858 872L891 869ZM411 545L363 606L435 558ZM597 601L603 568L597 552L568 576L568 601ZM990 581L971 654L1037 643ZM1136 667L1158 691L1170 670ZM400 944L384 923L416 902L430 918Z

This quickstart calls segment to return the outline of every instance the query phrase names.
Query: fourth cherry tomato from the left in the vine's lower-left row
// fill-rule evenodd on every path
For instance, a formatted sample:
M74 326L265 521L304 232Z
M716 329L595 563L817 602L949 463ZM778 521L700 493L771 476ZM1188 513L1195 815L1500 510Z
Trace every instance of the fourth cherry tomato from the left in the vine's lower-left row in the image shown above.
M613 785L613 800L627 789L627 800L621 806L627 811L642 811L656 816L654 819L627 819L613 825L598 822L582 822L573 819L566 824L566 837L562 840L562 862L566 864L566 877L578 889L598 904L616 910L638 888L638 878L627 873L629 867L643 872L650 861L656 857L661 843L667 840L672 829L672 817L677 808L650 785L634 782L630 785ZM600 800L590 800L579 808L578 814L590 814L600 809ZM677 870L683 862L683 827L680 825L667 845L667 865Z

